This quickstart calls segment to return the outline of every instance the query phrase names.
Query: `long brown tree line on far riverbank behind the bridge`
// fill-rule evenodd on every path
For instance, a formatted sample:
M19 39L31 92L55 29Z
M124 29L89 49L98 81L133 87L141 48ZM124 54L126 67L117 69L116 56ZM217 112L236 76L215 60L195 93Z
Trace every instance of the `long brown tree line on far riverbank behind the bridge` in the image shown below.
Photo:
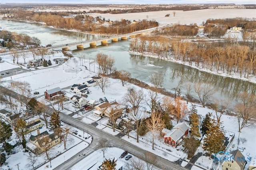
M101 23L96 23L96 18L91 16L78 14L74 17L63 17L67 16L67 14L64 15L63 12L38 13L20 9L18 12L15 12L15 14L14 19L44 22L46 26L53 26L57 29L76 29L89 33L124 34L158 26L158 22L154 20L141 20L136 24L131 24L126 20L116 20L113 21L113 24L104 26ZM101 20L100 17L98 19Z

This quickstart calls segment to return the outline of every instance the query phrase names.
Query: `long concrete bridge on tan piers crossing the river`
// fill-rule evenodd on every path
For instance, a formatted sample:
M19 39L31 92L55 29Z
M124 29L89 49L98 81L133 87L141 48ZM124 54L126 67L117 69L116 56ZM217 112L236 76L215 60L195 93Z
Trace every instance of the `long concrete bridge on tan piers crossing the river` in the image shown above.
M134 38L136 36L143 35L146 32L154 31L159 28L168 27L170 25L161 25L158 27L153 27L150 29L144 29L141 31L135 31L132 33L122 34L122 35L112 35L112 36L106 36L106 38L100 38L100 39L93 39L93 40L87 40L87 41L79 41L74 43L68 43L68 44L62 44L62 45L54 45L51 47L46 47L47 49L62 49L63 51L69 50L69 47L76 46L78 50L83 50L84 45L90 44L90 47L97 47L98 45L108 45L110 42L116 42L118 40L126 40L128 37Z

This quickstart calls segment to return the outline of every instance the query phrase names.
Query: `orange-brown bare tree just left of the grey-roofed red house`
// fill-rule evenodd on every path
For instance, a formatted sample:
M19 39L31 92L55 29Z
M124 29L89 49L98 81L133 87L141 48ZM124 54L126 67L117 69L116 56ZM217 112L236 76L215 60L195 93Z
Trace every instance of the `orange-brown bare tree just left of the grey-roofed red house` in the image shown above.
M159 136L160 131L164 129L162 113L158 111L152 112L150 119L146 121L146 127L152 135L152 149L154 150L154 139L155 137Z

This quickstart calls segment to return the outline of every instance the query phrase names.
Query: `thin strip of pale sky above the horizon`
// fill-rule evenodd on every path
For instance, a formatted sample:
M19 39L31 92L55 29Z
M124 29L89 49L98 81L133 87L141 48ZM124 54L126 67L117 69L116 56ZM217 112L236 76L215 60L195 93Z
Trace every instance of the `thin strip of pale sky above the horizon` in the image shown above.
M61 4L256 4L256 0L8 0L7 3Z

